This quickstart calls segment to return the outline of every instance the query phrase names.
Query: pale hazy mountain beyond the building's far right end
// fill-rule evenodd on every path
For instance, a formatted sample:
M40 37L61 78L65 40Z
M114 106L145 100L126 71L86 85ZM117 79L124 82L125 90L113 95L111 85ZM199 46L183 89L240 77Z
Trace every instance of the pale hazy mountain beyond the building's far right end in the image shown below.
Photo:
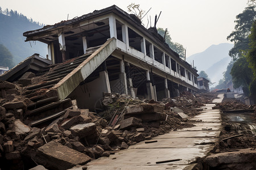
M193 54L187 58L188 63L193 63L196 69L205 71L212 82L218 83L223 78L223 72L226 71L226 66L231 61L229 50L233 44L222 43L211 45L204 52Z

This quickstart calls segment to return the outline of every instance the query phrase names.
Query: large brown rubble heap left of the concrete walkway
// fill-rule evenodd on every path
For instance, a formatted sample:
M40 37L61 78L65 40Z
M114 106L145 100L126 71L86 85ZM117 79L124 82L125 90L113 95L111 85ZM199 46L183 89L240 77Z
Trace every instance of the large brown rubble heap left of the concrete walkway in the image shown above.
M34 86L38 85L30 87ZM189 103L195 103L195 107L200 105L189 95L171 100L176 105L171 107L169 102L105 94L101 108L105 111L96 114L78 109L70 99L60 104L55 91L47 88L31 91L28 87L2 82L0 90L3 169L29 169L36 164L49 169L67 169L85 164L171 129L193 126L186 123L188 116L181 109L185 108L184 103L186 107ZM39 97L41 100L35 100ZM50 113L57 116L51 118Z

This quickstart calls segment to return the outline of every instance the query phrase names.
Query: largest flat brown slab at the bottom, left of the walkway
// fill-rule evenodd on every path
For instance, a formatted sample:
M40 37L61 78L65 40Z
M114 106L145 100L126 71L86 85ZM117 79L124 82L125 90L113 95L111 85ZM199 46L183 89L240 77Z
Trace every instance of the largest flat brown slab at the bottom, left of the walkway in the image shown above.
M39 147L35 161L51 169L68 169L90 161L90 157L53 141Z

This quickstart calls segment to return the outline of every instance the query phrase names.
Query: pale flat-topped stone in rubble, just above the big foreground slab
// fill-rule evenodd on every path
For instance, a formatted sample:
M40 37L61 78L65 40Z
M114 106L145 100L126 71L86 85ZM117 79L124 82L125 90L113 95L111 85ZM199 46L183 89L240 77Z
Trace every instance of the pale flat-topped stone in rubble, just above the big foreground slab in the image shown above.
M88 124L78 124L72 126L70 130L73 134L75 134L75 136L78 136L79 138L84 138L96 132L96 124L92 122Z

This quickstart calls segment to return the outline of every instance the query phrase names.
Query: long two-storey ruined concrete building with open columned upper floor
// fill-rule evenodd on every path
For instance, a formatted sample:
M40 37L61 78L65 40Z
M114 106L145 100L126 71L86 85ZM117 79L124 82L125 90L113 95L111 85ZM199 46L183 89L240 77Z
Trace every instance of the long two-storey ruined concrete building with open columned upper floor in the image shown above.
M55 90L58 100L76 99L79 108L95 111L104 92L162 100L198 90L197 70L156 28L115 5L23 36L48 44L51 60L34 54L0 79L13 82L31 71L41 78L27 90Z

